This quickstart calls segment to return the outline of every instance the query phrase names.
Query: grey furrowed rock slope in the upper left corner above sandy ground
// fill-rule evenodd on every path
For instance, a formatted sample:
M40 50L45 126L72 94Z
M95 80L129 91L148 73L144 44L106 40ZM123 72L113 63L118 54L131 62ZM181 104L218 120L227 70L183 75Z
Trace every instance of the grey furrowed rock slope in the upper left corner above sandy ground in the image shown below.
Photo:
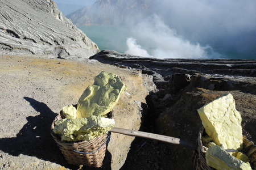
M0 1L0 52L88 58L97 45L51 0Z

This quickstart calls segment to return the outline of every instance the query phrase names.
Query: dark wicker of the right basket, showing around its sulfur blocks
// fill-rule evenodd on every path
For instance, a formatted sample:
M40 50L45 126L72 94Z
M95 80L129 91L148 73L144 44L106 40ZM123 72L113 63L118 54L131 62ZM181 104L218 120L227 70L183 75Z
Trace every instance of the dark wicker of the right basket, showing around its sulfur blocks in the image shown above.
M193 164L196 170L214 169L207 165L205 159L206 150L201 140L201 137L204 135L206 135L206 133L204 131L204 127L202 127L199 130L199 135L197 138L197 150L193 152ZM243 154L247 155L248 158L250 159L251 168L256 168L256 146L254 145L253 142L249 141L245 136L243 136L243 148L248 148L246 151L243 152Z

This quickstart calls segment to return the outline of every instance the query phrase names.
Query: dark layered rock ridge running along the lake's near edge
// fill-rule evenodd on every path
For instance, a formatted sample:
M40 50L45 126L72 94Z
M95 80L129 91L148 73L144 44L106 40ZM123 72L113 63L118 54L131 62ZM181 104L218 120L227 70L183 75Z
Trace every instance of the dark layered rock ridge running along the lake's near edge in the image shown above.
M158 59L131 56L113 50L102 50L90 59L142 70L143 74L154 76L156 86L168 82L172 74L204 73L256 77L256 61L254 59Z

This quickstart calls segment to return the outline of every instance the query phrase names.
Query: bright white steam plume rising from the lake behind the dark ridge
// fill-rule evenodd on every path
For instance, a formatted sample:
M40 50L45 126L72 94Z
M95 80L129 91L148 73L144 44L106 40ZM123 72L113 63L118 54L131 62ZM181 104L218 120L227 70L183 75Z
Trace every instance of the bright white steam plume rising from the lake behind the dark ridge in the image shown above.
M158 15L142 20L132 31L143 46L138 45L136 39L128 38L126 44L129 49L125 53L156 58L220 57L220 54L212 52L210 46L193 44L177 35L176 31L164 24Z

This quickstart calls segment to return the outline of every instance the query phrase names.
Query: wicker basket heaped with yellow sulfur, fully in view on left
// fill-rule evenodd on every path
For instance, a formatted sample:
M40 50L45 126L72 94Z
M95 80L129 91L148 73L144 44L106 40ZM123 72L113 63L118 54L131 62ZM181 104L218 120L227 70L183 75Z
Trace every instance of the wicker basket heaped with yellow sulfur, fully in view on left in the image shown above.
M69 164L101 167L115 125L112 109L127 86L102 71L77 105L63 107L51 125L51 135Z

